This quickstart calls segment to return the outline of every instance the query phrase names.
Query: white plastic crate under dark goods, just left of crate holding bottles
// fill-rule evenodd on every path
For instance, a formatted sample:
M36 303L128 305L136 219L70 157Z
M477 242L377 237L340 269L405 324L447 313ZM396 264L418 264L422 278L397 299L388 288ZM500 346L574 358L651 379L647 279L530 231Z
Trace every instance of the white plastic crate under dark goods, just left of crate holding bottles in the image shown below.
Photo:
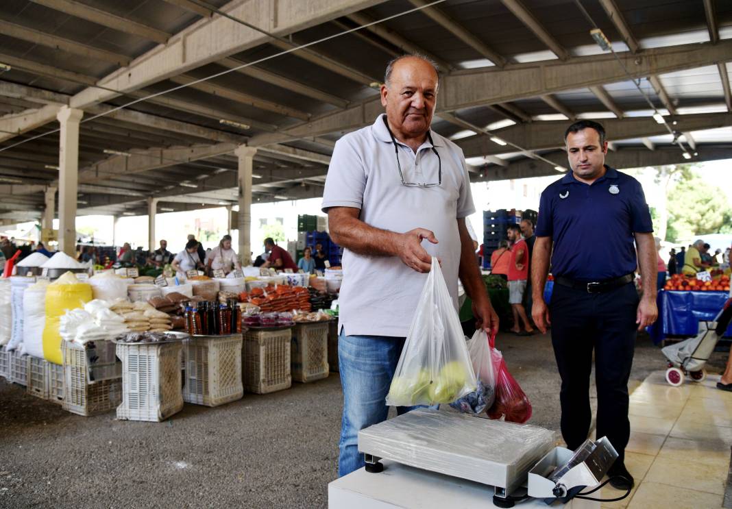
M179 341L117 344L122 359L118 419L160 422L183 410L181 348Z

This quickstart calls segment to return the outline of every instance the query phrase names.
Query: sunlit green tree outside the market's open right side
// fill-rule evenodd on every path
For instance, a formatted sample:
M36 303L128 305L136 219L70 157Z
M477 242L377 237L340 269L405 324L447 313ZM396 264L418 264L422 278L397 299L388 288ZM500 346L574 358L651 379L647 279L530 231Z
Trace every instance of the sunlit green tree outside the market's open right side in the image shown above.
M669 227L674 238L691 238L730 230L732 206L725 192L691 172L668 192ZM668 233L671 233L670 231Z

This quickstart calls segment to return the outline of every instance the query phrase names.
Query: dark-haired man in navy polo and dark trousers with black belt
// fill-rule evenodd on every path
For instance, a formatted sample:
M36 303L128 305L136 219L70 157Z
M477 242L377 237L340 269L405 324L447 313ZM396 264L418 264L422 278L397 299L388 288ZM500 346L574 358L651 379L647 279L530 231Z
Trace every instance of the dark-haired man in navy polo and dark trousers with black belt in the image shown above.
M539 202L532 314L543 333L551 323L561 375L561 434L572 450L589 434L594 350L597 437L608 437L619 453L608 472L610 483L628 489L633 478L624 465L624 450L630 437L633 347L637 331L654 323L658 314L651 214L641 184L605 165L608 143L602 125L575 122L564 140L571 171L550 184ZM547 306L543 290L550 258L555 284ZM636 261L643 276L640 299L633 284Z

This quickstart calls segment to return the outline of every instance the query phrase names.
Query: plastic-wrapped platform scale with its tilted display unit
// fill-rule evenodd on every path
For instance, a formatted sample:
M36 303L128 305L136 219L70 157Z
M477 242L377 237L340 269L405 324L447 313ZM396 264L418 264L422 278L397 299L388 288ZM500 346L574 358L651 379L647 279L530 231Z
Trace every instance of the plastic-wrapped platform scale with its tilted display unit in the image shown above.
M606 438L579 455L555 441L539 426L427 408L359 431L366 472L382 472L381 460L388 460L481 483L493 487L493 505L501 508L527 496L567 502L579 486L596 486L617 458Z

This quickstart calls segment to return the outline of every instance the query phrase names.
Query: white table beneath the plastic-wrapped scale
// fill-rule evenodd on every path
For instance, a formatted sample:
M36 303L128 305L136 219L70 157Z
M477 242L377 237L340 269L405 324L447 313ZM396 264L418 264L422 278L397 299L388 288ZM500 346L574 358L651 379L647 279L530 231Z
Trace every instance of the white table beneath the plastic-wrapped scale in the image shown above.
M328 485L329 509L486 509L493 505L493 487L448 475L381 460L384 472L356 470ZM602 498L600 491L592 495ZM548 506L537 499L518 502L517 509ZM574 499L567 509L600 509L600 502Z

